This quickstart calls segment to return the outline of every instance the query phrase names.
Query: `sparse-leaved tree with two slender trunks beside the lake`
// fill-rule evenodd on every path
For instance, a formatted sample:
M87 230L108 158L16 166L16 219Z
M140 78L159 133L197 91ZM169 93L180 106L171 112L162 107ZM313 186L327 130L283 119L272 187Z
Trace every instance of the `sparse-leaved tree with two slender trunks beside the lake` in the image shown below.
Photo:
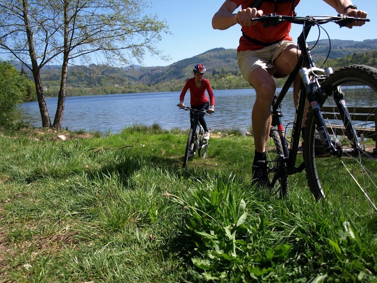
M91 62L97 53L112 65L141 63L169 32L157 15L144 14L144 0L0 0L0 49L32 71L42 126L61 129L69 64ZM45 65L61 64L61 83L53 125L40 78Z

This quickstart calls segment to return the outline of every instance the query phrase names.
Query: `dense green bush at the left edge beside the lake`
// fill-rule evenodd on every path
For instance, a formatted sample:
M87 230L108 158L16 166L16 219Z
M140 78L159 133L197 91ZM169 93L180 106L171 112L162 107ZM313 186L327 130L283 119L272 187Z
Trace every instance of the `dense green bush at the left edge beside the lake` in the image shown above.
M15 111L18 103L25 100L31 85L25 75L21 75L8 62L0 62L0 126L10 127L18 118Z

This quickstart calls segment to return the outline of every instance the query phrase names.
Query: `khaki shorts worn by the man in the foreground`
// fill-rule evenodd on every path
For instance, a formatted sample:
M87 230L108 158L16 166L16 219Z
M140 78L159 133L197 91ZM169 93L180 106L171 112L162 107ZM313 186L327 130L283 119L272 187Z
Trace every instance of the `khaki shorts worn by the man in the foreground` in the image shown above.
M285 48L292 44L296 45L292 41L284 40L259 50L238 51L237 63L245 80L248 81L251 72L258 67L265 69L274 77L282 77L276 74L273 62Z

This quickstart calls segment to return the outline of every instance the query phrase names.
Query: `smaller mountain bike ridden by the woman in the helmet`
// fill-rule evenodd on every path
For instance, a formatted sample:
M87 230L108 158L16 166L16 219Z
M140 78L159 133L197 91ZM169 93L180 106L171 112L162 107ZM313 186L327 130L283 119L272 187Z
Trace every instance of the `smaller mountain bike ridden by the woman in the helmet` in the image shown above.
M187 106L179 109L190 111L192 114L190 115L191 127L189 137L187 137L185 156L183 158L183 167L186 167L189 158L194 157L196 149L198 149L199 157L205 158L207 155L209 140L204 139L204 129L199 123L199 114L204 113L204 115L207 115L207 110L196 110Z

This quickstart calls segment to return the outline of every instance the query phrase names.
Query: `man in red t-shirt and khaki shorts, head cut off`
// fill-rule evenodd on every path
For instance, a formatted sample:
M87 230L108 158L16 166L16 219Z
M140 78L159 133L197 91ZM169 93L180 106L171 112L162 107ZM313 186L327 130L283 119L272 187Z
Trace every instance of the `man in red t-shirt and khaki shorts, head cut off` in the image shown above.
M323 0L339 14L366 18L350 0ZM212 18L214 29L227 29L239 24L242 36L237 48L238 66L243 77L254 87L256 101L251 115L255 143L252 165L252 184L268 185L265 147L271 126L271 103L276 84L272 77L285 77L291 73L300 49L289 35L291 23L264 27L262 23L251 22L263 14L294 15L294 8L300 0L225 0ZM233 12L241 5L241 10ZM361 26L364 22L352 22L347 26ZM294 103L299 90L299 76L293 83ZM303 128L304 130L304 128Z

